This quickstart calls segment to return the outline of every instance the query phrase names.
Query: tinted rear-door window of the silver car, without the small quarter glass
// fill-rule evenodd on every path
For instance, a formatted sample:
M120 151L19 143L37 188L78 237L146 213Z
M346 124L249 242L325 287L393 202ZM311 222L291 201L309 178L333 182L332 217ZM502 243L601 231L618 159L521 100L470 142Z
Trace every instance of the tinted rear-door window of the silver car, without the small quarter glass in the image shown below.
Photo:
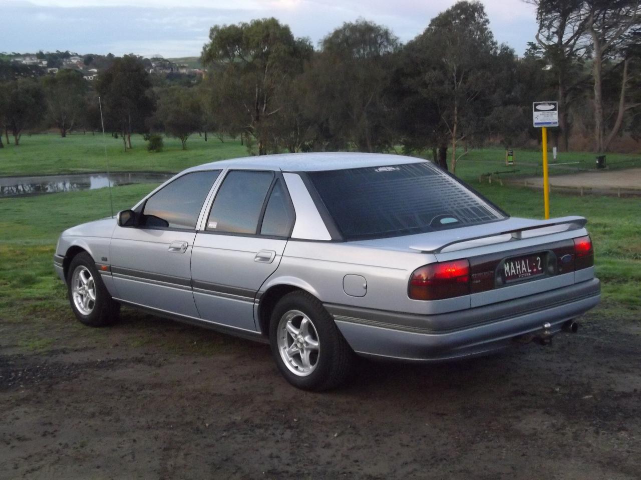
M273 172L233 170L222 182L207 220L207 230L256 234Z

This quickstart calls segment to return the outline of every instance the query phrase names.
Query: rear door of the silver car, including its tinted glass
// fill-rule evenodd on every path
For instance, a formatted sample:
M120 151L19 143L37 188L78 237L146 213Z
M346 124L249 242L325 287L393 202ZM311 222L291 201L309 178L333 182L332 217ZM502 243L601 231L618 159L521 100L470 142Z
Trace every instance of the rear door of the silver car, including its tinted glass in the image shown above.
M192 252L194 300L207 321L256 331L256 292L280 262L294 226L280 172L231 170Z

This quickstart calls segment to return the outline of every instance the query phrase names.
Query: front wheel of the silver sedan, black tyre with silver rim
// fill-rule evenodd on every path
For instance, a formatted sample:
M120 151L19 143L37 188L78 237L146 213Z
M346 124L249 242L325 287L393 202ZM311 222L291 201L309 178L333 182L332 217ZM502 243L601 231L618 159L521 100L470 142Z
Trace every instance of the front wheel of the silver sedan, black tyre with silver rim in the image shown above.
M69 265L67 294L76 318L88 326L107 326L118 320L120 304L103 284L94 259L78 253Z

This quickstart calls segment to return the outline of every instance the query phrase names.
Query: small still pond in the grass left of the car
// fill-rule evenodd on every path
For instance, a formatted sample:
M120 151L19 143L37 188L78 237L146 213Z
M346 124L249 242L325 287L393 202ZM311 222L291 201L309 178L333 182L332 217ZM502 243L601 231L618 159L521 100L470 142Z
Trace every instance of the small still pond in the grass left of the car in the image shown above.
M135 183L162 183L173 173L113 172L112 186ZM33 177L0 177L0 197L58 193L62 191L93 190L109 186L106 173L68 173Z

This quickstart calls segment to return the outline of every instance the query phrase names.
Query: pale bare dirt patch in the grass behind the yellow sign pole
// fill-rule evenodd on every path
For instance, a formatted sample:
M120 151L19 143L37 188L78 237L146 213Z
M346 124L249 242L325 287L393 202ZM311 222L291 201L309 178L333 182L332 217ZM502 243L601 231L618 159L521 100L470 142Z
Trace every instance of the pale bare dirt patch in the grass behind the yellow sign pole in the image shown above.
M554 173L551 171L550 173ZM592 189L639 189L641 193L641 168L626 170L594 170L592 172L572 173L572 175L553 175L550 184L553 187L592 188ZM515 180L517 181L517 180ZM542 177L519 179L519 184L528 182L529 186L543 188Z

